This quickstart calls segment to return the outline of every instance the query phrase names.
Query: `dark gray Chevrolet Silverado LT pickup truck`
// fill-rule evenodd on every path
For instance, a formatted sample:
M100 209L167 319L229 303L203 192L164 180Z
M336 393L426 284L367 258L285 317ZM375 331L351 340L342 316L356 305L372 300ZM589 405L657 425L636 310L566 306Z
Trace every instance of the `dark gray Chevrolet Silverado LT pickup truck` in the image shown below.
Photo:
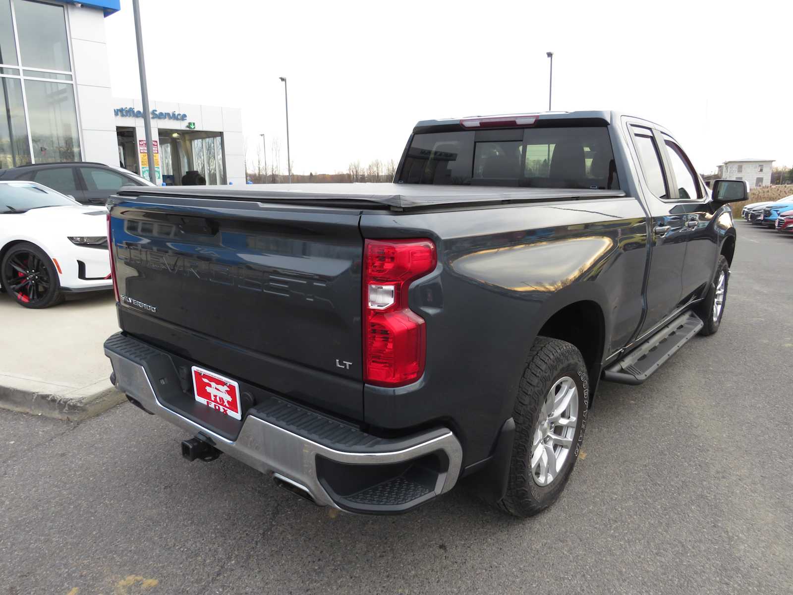
M318 505L404 512L465 482L529 516L601 380L718 330L745 194L612 112L422 121L394 183L125 188L111 380L187 459Z

